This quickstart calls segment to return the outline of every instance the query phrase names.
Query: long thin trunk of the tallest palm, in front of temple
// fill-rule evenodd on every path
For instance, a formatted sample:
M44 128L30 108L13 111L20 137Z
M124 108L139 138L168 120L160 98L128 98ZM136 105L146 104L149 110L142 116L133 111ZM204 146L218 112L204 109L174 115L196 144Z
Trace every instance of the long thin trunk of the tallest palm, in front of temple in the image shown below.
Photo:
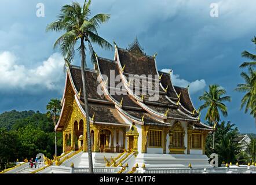
M85 114L86 114L86 129L87 129L87 152L88 152L88 161L89 161L89 173L93 173L93 158L92 158L92 145L90 137L90 120L89 120L89 111L88 111L88 101L87 93L85 86L85 45L83 43L83 37L81 38L81 73L82 73L82 83L83 83L83 97L85 99Z

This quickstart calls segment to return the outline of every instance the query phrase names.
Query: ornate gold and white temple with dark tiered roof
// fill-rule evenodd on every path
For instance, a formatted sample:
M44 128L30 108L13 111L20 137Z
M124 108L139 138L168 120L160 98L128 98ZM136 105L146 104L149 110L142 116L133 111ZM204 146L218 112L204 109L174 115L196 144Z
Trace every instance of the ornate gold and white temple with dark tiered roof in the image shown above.
M157 156L207 163L206 136L213 129L200 122L189 89L158 71L156 55L147 56L135 40L129 49L115 45L114 60L96 58L94 69L85 70L93 153L132 153L141 163ZM84 108L81 68L71 65L55 128L63 133L63 153L87 151Z

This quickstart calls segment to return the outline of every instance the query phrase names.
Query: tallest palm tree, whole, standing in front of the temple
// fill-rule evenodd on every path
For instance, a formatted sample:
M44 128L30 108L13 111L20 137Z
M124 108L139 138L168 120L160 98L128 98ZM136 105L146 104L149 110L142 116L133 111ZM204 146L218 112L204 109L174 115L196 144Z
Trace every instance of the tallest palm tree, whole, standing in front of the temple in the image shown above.
M72 60L74 60L75 45L79 45L78 51L81 55L81 74L83 83L82 90L85 100L89 173L93 173L89 111L85 86L85 68L87 67L85 51L89 49L91 56L90 58L94 63L96 62L96 53L94 52L92 43L96 43L98 46L104 49L112 49L112 46L107 42L107 40L101 38L97 32L97 28L100 26L100 24L105 23L110 18L110 15L100 13L96 14L96 16L93 16L92 18L89 18L91 14L89 9L90 3L90 0L88 2L85 1L82 7L78 2L72 2L71 5L64 5L61 8L61 13L58 15L58 19L47 25L46 31L65 32L56 40L54 48L58 46L60 47L61 53L65 57L65 61L68 62L68 64L71 64Z

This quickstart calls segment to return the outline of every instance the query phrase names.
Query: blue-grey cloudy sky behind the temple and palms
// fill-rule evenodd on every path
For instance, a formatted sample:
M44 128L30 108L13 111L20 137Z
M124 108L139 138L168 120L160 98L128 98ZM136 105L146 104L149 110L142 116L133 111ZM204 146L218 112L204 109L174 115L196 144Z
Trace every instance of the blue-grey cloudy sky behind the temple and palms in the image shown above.
M61 6L70 2L1 0L0 113L12 109L45 112L50 98L61 98L64 61L59 51L53 50L60 34L46 33L45 28L56 19ZM45 6L44 17L36 16L38 3ZM216 3L218 12L213 11ZM243 94L234 91L237 83L243 83L241 52L255 51L250 40L256 35L256 1L93 0L91 8L92 14L111 14L98 31L109 42L115 40L126 48L137 36L148 55L157 52L158 69L172 69L177 86L190 84L196 108L202 103L199 95L209 84L226 88L232 102L226 103L229 115L222 120L231 120L241 132L256 133L254 119L240 110ZM98 56L114 57L112 51L95 49ZM79 65L78 57L74 64Z

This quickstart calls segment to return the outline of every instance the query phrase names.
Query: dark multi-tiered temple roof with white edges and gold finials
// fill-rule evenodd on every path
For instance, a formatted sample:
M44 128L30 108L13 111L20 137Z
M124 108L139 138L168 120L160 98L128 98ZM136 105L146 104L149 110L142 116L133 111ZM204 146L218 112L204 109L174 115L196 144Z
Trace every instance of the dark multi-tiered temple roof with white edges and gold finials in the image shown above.
M211 129L200 123L199 115L189 97L188 88L173 86L170 73L158 71L155 56L147 56L137 39L126 50L115 45L114 60L97 57L94 68L94 70L85 70L89 116L93 124L127 125L125 120L129 120L141 125L171 125L172 121L178 120L187 121L196 129ZM111 83L109 80L111 71L114 72L114 77L120 76L123 87L121 91L126 92L125 94L111 93L113 90L120 91L116 88L120 82ZM144 78L142 77L139 85L134 87L136 80L129 79L131 75L144 75ZM154 78L155 75L158 78ZM144 89L143 80L149 82L152 88ZM72 86L75 101L85 116L81 68L78 66L71 65L68 68L61 114L68 111L68 106L65 105L68 85ZM104 94L97 93L99 87ZM154 87L158 87L159 90ZM139 93L135 93L136 90ZM142 90L147 93L143 94ZM159 94L158 101L151 101L154 92ZM61 131L64 125L65 117L61 116L56 130Z

